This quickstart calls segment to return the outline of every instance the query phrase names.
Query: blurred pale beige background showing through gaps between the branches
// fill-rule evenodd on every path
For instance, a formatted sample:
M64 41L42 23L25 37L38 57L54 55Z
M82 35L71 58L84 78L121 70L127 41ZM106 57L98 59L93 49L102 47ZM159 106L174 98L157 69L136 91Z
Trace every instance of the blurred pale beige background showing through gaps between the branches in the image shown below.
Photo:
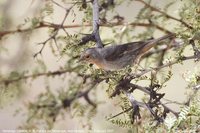
M152 5L157 7L164 7L167 3L174 0L153 0ZM61 1L56 1L61 2ZM69 7L72 1L67 0L65 7ZM41 0L0 0L0 31L14 31L21 27L28 28L30 24L26 23L31 18L41 15L41 10L45 8L45 2ZM170 7L169 14L172 16L178 16L178 10L183 5L182 1L177 1L173 6ZM45 17L45 21L60 24L65 15L65 11L56 6L53 6L53 15ZM138 11L142 8L142 4L133 2L123 2L120 6L115 8L114 12L125 17L125 22L131 22L135 20ZM78 8L74 8L74 14L72 13L67 18L65 25L82 25L82 18L84 12L80 12ZM74 20L74 21L73 21ZM91 21L91 20L88 20ZM175 22L168 24L168 28L173 29ZM85 27L68 28L66 29L69 34L77 34L82 30L83 33L87 33L88 29L83 30ZM119 26L118 34L121 33L124 26ZM114 38L112 29L104 27L101 29L102 40L109 40ZM142 27L135 29L133 34L137 35L143 30ZM7 77L10 73L13 75L17 72L24 72L30 74L32 71L56 71L60 67L64 66L68 57L64 56L59 58L52 53L52 46L46 46L43 50L42 55L33 57L41 49L41 45L38 43L45 41L49 34L47 28L38 28L27 32L16 32L5 35L0 40L0 79ZM155 37L162 36L163 33L156 32ZM123 40L122 40L123 41ZM118 42L119 43L119 42ZM54 47L54 46L53 46ZM191 48L189 47L185 52L192 54ZM165 98L184 102L186 99L185 93L187 92L187 81L184 78L188 73L197 71L197 63L194 61L186 61L183 64L174 65L172 68L173 77L167 82L166 87L161 92L166 93ZM43 67L42 67L43 66ZM62 75L63 78L70 80L71 74ZM71 79L73 80L73 79ZM27 109L26 105L30 101L34 101L35 98L42 92L46 91L46 84L48 83L49 88L52 91L57 91L68 85L67 80L60 80L60 77L51 78L48 80L46 77L38 77L34 80L28 79L26 82L21 80L23 84L9 85L6 89L9 89L6 95L1 91L0 96L0 129L17 129L22 123L26 122ZM143 84L143 83L142 83ZM110 113L116 114L121 110L115 106L119 102L118 99L109 99L106 93L107 85L101 85L98 87L96 92L97 101L102 102L97 108L97 114L92 119L94 129L114 129L117 131L124 131L125 129L120 128L106 121L105 117ZM0 89L3 86L0 84ZM5 91L5 90L4 90ZM138 92L134 94L136 98L141 98L143 93ZM177 105L169 105L175 110L179 110ZM81 124L82 123L82 124ZM53 129L82 129L84 119L71 118L70 113L65 113L64 118L58 118Z

